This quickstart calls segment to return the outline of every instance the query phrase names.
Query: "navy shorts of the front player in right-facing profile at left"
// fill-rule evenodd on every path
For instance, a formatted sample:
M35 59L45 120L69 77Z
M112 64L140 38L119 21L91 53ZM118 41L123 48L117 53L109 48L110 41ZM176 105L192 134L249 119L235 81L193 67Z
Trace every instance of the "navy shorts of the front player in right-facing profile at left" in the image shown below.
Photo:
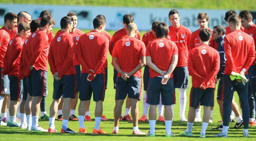
M30 72L27 80L27 90L32 96L47 96L47 71L35 70ZM31 94L32 93L32 94Z

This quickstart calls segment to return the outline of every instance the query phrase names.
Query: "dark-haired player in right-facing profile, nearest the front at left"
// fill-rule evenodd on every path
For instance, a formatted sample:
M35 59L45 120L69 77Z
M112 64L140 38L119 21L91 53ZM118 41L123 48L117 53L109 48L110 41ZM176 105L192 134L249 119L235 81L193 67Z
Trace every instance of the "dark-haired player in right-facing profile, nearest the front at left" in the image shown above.
M48 131L38 125L38 116L42 97L47 96L47 33L49 34L54 24L55 20L51 16L44 16L40 21L40 29L34 32L27 42L28 67L25 75L28 77L27 85L32 89L32 131Z

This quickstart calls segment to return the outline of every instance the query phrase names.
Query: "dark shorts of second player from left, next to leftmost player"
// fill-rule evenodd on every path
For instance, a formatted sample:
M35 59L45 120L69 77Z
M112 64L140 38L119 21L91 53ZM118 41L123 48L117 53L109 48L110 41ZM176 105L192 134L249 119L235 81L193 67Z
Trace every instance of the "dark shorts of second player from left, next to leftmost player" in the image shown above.
M9 76L10 80L10 100L17 101L21 100L21 95L23 93L22 80L17 76Z

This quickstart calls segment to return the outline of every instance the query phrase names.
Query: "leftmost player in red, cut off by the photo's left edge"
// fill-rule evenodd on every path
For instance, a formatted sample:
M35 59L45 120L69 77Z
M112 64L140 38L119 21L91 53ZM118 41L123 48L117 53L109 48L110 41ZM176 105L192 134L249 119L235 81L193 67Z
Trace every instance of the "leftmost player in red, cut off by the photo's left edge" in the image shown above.
M9 112L9 109L7 107L7 103L3 105L4 99L7 101L7 96L10 94L10 89L9 89L9 79L8 75L4 75L4 56L7 50L7 45L10 42L10 35L9 31L11 29L14 29L15 26L17 26L17 18L18 16L15 13L7 13L4 16L4 26L0 29L0 109L1 111L1 122L0 125L6 125L7 123L6 118L7 114L6 111ZM3 106L3 107L2 107Z

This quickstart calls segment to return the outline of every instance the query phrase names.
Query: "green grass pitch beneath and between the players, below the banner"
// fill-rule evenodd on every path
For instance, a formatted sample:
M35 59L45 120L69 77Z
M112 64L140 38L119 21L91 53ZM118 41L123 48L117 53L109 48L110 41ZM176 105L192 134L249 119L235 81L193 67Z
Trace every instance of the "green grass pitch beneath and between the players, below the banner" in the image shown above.
M54 29L54 33L57 32L58 29ZM88 32L89 30L84 30L84 32ZM109 31L111 35L113 35L114 31ZM145 32L141 32L141 35L143 35ZM165 137L165 123L164 122L157 122L156 123L156 137L145 137L142 136L134 136L132 135L132 122L122 121L119 124L119 134L111 134L113 129L113 109L114 109L114 99L115 99L115 91L113 89L113 66L110 64L111 62L111 56L108 55L108 89L106 90L105 94L105 101L103 102L103 115L106 115L107 118L109 118L109 121L102 121L101 122L101 128L103 131L106 131L107 134L105 135L93 135L92 129L94 128L94 108L95 103L91 101L90 106L90 114L91 118L93 119L92 122L84 122L85 128L87 130L87 134L61 134L61 126L62 122L55 121L56 129L59 131L59 133L44 133L44 132L32 132L32 131L26 131L25 129L20 128L10 128L6 126L0 126L0 139L2 141L7 140L202 140L199 138L200 130L201 130L201 122L200 123L194 123L193 126L193 137L180 137L179 133L183 132L187 127L187 122L180 122L179 121L179 93L178 90L176 90L176 105L175 105L175 118L172 125L172 132L175 133L176 137L172 138L166 138ZM50 67L48 67L48 97L47 97L47 111L49 113L50 104L52 102L52 93L53 93L53 78L52 74L50 72ZM190 79L191 80L191 79ZM190 88L191 88L191 81L190 81ZM216 98L216 92L215 91L215 98ZM187 90L187 109L186 109L186 116L188 114L189 110L189 93L190 89ZM144 92L143 92L144 95ZM238 96L235 94L236 101L238 102ZM79 101L78 101L79 104ZM78 106L77 106L78 108ZM123 106L123 114L125 106ZM139 102L139 118L142 115L142 101ZM78 116L77 109L76 109L76 116ZM201 117L203 116L203 110L201 112ZM219 106L217 102L215 102L214 107L214 113L213 113L213 123L209 123L209 126L206 130L206 137L207 140L219 140L219 138L214 138L213 135L217 134L219 130L212 130L212 128L217 127L220 123L217 123L220 121L220 114L219 114ZM42 121L39 120L40 126L42 126L45 129L48 129L49 127L49 121ZM79 129L79 123L78 122L69 122L68 123L69 128L78 131ZM230 124L230 128L234 126L234 123ZM148 122L139 122L139 128L144 131L149 131L149 123ZM249 140L248 138L240 138L242 137L242 131L243 129L230 129L229 130L229 138L221 138L221 140ZM256 129L255 127L249 126L249 132L251 137L256 137Z

